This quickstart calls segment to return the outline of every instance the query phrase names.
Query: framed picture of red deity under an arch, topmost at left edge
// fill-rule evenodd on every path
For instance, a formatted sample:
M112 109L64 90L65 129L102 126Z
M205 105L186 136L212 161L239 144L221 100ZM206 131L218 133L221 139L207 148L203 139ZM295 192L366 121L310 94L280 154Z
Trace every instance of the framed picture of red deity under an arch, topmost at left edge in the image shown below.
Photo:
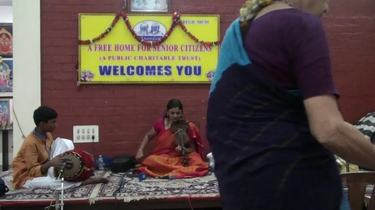
M0 23L0 56L13 57L13 25Z

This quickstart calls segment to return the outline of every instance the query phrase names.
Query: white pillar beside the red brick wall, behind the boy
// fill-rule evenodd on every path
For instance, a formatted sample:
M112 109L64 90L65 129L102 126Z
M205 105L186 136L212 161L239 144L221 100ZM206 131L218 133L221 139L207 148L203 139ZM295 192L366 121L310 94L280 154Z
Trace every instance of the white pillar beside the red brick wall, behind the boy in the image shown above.
M33 112L41 105L40 0L13 0L13 40L14 157L23 143L22 132L27 136L34 129Z

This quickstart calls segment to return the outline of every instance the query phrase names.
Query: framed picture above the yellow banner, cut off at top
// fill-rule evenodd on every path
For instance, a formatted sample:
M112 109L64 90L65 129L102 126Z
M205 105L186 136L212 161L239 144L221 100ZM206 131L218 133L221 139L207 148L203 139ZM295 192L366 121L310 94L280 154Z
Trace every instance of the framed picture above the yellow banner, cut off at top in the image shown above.
M170 13L170 0L127 0L128 13Z

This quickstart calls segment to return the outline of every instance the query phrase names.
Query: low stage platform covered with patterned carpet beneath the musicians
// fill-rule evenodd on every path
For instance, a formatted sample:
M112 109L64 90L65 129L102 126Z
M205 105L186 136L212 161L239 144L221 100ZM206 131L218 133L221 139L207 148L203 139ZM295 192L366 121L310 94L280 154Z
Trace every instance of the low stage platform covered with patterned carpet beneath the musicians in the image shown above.
M153 179L139 182L136 178L107 171L96 171L95 176L108 177L107 185L87 185L65 190L65 208L86 210L126 208L153 209L220 209L219 189L213 173L192 179ZM3 210L44 209L54 200L54 191L47 189L18 189L12 187L12 170L2 172L0 178L9 187L0 199ZM190 202L190 204L189 204ZM54 209L54 207L51 207Z

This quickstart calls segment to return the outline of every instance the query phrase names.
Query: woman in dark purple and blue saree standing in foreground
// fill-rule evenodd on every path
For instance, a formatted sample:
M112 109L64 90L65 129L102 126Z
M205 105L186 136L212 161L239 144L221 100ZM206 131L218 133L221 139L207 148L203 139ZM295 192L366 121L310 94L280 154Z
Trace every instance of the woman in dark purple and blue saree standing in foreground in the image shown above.
M246 1L226 31L206 134L224 210L339 210L334 154L375 169L339 111L320 16L327 0Z

